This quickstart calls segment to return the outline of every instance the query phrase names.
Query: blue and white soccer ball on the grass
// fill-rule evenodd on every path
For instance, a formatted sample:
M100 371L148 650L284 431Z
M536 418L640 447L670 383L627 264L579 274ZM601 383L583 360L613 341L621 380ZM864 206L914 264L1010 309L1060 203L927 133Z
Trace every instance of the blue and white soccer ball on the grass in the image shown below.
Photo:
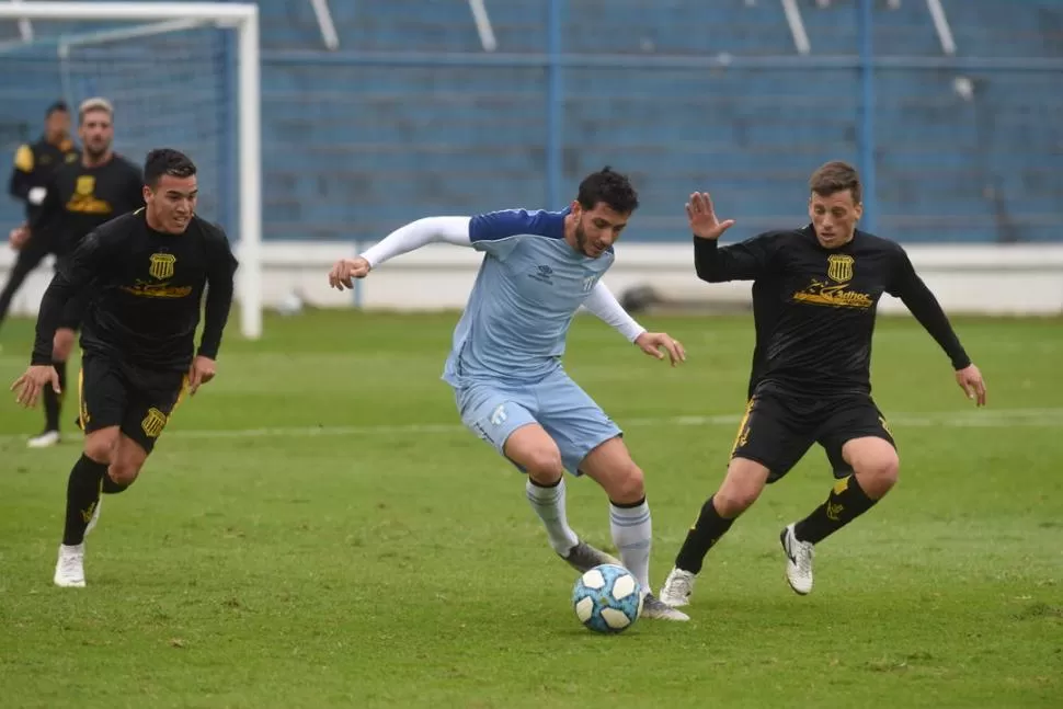
M604 563L576 580L572 607L591 630L622 632L642 614L642 586L624 567Z

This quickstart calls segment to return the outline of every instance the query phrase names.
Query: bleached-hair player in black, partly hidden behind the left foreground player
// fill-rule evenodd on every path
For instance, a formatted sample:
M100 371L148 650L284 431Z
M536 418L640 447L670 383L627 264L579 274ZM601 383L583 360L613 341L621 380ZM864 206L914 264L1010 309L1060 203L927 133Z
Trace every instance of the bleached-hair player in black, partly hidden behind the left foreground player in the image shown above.
M78 135L81 159L58 168L46 186L41 209L24 229L31 242L42 239L62 260L87 233L115 217L144 206L140 170L112 150L114 110L106 99L89 99L78 108ZM16 230L18 231L18 230ZM14 236L14 235L13 235ZM52 361L66 387L67 359L73 351L75 333L88 300L69 301L59 321L53 343ZM32 448L44 448L59 442L61 399L50 389L44 393L44 431L30 439Z

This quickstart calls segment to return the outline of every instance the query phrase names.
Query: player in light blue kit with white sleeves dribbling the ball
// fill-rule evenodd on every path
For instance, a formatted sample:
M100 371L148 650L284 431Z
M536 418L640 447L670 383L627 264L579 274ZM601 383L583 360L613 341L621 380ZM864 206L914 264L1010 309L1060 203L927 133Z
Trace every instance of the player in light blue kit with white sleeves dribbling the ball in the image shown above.
M581 573L611 556L581 541L569 526L564 471L586 474L609 498L609 527L620 560L642 584L642 615L688 620L650 591L652 525L642 470L620 428L561 366L565 335L581 306L643 352L686 358L665 333L647 332L620 307L602 276L613 243L638 208L628 179L605 168L583 180L561 211L513 209L473 217L428 217L405 225L356 259L333 266L329 283L352 287L373 268L432 242L484 253L443 378L461 421L527 473L532 508L550 546Z

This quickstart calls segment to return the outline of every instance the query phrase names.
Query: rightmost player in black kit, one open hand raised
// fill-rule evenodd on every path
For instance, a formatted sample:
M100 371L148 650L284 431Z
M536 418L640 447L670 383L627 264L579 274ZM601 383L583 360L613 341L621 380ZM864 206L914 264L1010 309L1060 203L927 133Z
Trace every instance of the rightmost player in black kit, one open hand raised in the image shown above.
M781 535L786 578L812 590L813 547L885 495L899 459L887 421L871 399L875 311L883 293L899 297L952 363L967 394L985 403L982 375L960 345L937 299L900 244L856 229L857 171L828 162L810 180L812 222L718 247L734 222L720 221L708 194L694 194L687 216L698 277L753 281L756 345L748 404L720 489L701 507L661 591L685 605L709 549L819 443L837 479L826 501Z

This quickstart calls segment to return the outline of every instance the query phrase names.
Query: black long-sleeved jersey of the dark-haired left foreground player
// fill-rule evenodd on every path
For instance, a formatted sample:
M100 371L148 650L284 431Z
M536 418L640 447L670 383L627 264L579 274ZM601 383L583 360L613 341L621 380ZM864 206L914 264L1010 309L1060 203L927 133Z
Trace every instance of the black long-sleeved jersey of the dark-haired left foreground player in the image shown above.
M37 316L33 364L50 364L64 306L88 297L81 347L144 369L186 369L195 351L214 358L232 302L237 262L220 227L193 217L184 233L151 229L140 209L85 237L61 265ZM209 286L209 287L208 287Z

